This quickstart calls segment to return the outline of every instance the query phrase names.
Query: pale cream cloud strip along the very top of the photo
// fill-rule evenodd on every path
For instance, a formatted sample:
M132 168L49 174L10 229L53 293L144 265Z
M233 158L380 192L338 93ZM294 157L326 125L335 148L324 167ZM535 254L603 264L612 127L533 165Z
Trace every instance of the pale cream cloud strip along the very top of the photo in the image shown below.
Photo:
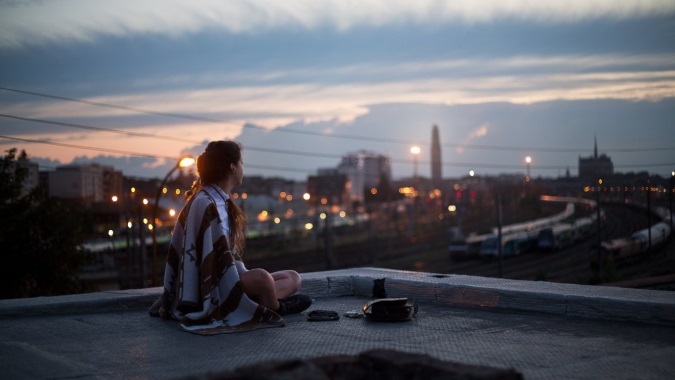
M89 0L11 1L0 2L0 47L91 42L104 35L181 36L214 29L254 34L277 28L328 27L346 31L357 27L473 24L504 19L569 23L673 12L675 3L670 0L118 0L114 6Z

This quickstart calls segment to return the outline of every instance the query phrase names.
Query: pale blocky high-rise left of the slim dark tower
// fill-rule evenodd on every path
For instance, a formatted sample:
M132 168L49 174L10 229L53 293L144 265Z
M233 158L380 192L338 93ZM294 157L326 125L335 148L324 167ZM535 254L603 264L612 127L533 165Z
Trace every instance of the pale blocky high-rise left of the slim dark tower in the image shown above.
M364 191L377 187L382 175L391 179L391 160L382 154L359 151L343 156L336 170L347 178L350 200L362 202Z

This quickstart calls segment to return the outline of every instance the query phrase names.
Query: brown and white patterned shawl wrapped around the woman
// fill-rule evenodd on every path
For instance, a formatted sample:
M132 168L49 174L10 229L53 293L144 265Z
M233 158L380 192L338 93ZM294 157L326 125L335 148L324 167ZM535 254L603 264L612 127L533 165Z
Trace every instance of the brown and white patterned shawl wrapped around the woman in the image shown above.
M159 315L200 335L284 326L281 316L244 293L234 260L216 204L198 192L173 230Z

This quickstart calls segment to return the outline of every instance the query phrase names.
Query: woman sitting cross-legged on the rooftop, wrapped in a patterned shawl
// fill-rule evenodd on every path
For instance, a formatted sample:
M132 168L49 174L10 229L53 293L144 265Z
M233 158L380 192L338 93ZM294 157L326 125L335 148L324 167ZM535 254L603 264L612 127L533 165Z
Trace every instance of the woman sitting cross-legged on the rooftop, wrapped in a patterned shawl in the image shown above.
M295 294L297 272L244 266L246 217L230 200L244 176L240 145L209 143L197 159L197 176L171 237L164 291L150 315L178 319L190 332L217 334L282 326L280 315L307 309L311 299Z

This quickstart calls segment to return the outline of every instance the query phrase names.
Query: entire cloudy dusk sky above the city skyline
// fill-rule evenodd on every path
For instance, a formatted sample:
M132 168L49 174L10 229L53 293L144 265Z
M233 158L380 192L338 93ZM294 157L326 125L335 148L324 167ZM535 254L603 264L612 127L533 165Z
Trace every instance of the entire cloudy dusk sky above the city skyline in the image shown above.
M234 139L246 175L366 150L399 179L437 125L445 178L576 175L594 139L670 176L673 41L672 0L0 0L0 148L161 178Z

